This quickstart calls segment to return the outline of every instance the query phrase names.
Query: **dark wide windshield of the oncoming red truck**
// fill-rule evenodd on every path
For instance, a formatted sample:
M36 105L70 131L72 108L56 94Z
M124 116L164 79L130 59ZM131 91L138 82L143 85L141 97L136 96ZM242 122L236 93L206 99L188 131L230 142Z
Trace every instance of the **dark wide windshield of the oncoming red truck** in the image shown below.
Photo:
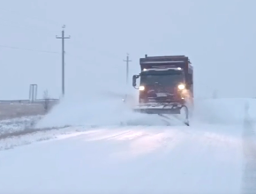
M181 82L184 82L183 74L141 74L140 77L141 86L176 86Z

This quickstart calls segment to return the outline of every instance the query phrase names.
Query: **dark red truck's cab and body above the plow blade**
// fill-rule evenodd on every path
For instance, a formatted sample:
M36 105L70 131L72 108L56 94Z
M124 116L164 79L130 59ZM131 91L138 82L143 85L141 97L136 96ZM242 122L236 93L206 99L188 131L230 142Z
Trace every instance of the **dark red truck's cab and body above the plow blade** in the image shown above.
M145 56L139 59L139 104L185 104L193 99L193 68L187 56Z

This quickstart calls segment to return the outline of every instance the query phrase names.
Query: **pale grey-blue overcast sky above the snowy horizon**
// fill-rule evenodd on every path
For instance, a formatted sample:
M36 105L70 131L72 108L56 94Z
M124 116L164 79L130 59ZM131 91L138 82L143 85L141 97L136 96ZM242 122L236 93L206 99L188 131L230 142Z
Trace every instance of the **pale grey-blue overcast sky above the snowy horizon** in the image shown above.
M194 66L195 95L256 96L253 0L1 0L0 99L27 99L38 84L61 94L61 27L66 25L66 93L125 85L145 54L185 55ZM6 48L27 48L24 49ZM43 53L45 50L53 53ZM57 53L55 53L57 52Z

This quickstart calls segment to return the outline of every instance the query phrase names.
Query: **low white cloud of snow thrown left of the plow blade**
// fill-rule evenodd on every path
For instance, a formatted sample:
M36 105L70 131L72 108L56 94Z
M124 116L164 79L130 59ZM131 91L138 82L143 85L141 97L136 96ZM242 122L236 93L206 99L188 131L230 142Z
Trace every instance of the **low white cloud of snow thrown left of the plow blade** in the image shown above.
M95 101L95 100L94 100ZM83 104L81 106L81 104ZM129 102L121 99L106 99L92 105L87 101L63 101L48 116L45 116L37 128L61 127L64 125L111 126L111 125L166 125L159 116L147 116L134 113Z

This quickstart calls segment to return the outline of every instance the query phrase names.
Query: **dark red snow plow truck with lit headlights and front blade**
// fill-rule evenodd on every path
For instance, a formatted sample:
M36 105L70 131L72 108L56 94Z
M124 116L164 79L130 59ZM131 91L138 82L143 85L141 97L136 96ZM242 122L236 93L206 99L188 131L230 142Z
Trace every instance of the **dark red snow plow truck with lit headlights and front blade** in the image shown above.
M132 77L132 86L139 89L139 105L134 111L167 119L176 116L189 126L193 105L193 67L189 58L146 55L139 63L140 73Z

